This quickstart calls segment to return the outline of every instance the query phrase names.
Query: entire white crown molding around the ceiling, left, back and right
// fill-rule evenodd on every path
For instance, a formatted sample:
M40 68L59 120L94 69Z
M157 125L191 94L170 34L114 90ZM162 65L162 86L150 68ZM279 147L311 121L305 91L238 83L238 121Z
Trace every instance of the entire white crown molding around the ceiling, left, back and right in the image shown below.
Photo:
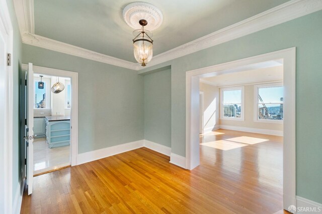
M138 63L132 63L35 35L33 0L13 1L23 43L136 71L192 54L322 10L321 0L292 0L249 19L156 55L146 67L141 67Z

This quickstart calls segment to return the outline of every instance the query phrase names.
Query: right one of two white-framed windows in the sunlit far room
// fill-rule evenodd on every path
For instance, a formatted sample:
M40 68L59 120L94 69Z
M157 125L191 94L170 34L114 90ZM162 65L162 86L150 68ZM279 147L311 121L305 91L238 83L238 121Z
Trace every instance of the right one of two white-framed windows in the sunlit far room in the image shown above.
M283 83L254 86L254 108L256 122L283 122Z

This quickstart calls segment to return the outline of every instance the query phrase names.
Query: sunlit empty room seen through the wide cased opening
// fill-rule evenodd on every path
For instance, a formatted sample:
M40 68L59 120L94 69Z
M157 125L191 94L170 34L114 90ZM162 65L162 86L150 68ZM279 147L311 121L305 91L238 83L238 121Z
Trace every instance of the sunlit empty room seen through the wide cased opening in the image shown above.
M283 62L249 67L200 78L205 121L201 126L206 130L200 134L200 165L220 171L216 179L208 181L220 185L218 180L224 179L241 205L260 203L248 191L265 188L259 192L266 202L261 208L249 209L275 213L283 209L282 135L283 111L287 111L283 108ZM237 195L247 194L250 199L243 204Z

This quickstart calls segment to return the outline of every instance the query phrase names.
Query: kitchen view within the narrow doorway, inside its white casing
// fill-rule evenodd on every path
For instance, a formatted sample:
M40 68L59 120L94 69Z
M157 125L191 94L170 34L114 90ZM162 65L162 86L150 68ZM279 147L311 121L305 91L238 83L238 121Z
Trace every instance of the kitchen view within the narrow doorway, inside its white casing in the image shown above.
M51 91L59 82L63 90ZM70 78L34 74L34 176L70 166Z

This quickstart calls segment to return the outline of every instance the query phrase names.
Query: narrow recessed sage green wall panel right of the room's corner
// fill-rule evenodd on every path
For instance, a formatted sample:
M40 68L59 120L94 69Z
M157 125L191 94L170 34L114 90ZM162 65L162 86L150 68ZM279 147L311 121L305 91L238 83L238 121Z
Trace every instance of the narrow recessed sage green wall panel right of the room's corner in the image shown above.
M144 76L144 139L171 147L171 69Z

